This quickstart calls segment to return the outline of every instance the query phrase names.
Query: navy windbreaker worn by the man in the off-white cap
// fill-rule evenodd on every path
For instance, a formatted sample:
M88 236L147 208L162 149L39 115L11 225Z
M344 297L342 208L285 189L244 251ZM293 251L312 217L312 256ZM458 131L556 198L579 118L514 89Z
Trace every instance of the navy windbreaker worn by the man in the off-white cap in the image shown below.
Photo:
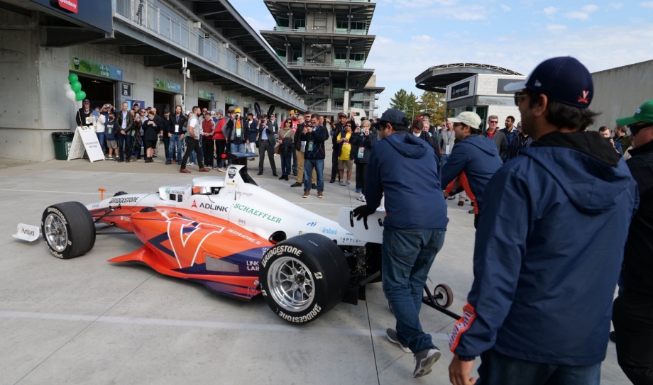
M454 145L449 160L442 166L442 186L449 186L464 171L478 208L481 208L485 185L502 165L497 145L492 139L469 135Z

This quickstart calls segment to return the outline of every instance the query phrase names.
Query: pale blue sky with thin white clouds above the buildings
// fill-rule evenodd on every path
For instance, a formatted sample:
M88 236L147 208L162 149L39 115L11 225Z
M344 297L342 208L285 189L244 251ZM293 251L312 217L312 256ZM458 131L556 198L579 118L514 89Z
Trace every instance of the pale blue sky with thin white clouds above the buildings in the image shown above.
M375 69L379 115L399 89L414 92L429 67L483 63L527 75L570 55L590 72L653 60L653 1L376 0L366 68ZM263 0L232 0L255 30L275 21Z

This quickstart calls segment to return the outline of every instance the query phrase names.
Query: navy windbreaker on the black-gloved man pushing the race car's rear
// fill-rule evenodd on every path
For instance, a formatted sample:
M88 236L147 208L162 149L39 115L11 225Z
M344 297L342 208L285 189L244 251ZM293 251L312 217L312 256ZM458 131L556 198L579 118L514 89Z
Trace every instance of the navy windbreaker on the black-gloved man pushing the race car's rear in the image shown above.
M388 230L446 228L446 202L424 200L442 191L432 147L407 133L386 136L372 145L365 184L367 205L378 208L385 193L383 227Z

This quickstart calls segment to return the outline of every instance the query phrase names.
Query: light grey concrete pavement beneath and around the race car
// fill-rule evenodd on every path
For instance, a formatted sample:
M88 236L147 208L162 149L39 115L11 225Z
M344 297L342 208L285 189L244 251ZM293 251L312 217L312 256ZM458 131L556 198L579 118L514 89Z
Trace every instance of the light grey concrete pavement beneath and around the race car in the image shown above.
M290 188L292 176L273 178L267 162L265 174L253 177L299 206L337 220L337 208L360 204L354 182L329 184L330 162L324 199L302 199L301 188ZM133 235L98 235L91 252L72 260L52 257L42 241L11 238L18 223L38 225L50 203L98 201L99 187L106 194L146 192L224 175L188 169L193 173L179 174L161 158L0 160L0 384L449 384L454 320L422 310L422 325L443 355L432 374L412 379L412 355L385 339L394 318L380 284L368 285L368 299L358 306L341 303L308 325L291 325L260 298L245 303L148 267L106 262L140 247ZM451 310L460 313L473 279L473 216L468 204L447 203L449 227L429 286L449 284L456 296ZM607 352L602 384L628 384L611 342Z

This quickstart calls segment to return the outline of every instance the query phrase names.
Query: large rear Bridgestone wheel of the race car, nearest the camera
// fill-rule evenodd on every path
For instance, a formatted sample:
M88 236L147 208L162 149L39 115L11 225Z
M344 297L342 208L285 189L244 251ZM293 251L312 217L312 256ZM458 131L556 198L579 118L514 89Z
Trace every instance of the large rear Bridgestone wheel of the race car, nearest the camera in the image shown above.
M297 274L292 275L292 268ZM265 302L277 316L307 323L342 301L349 285L349 264L342 250L324 235L297 235L265 253L259 281Z

